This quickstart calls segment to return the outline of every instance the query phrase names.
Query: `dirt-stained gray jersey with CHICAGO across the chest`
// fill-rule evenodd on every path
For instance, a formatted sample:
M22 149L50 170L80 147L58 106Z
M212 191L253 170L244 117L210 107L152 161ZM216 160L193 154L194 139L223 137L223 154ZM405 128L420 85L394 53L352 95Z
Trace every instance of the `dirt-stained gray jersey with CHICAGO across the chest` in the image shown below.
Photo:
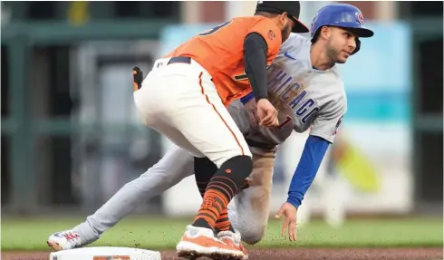
M336 66L326 71L313 68L310 39L292 34L267 68L269 99L279 112L277 128L252 127L240 101L228 107L248 144L273 148L286 140L292 130L333 143L336 130L347 110L343 81Z

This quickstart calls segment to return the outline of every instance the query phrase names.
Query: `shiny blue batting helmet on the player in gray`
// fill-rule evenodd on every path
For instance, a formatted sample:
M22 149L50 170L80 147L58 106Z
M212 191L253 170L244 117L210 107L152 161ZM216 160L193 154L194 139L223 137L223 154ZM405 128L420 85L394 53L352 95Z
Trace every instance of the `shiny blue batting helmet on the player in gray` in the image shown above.
M362 38L373 36L372 30L364 26L361 10L353 5L332 4L323 6L312 20L312 42L317 38L323 26L341 27ZM361 41L356 38L356 49L352 54L357 53L360 48Z

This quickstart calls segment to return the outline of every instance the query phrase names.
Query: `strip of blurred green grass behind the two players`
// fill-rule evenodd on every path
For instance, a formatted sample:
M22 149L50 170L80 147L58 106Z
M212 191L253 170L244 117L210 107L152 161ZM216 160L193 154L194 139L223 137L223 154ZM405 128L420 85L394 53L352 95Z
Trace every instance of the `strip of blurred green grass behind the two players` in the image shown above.
M45 250L46 238L69 229L82 218L2 219L2 250ZM189 220L130 217L105 232L92 246L174 248ZM441 218L351 220L334 229L314 221L298 230L298 242L280 236L281 222L271 220L257 247L394 247L442 246ZM256 247L256 246L255 246Z

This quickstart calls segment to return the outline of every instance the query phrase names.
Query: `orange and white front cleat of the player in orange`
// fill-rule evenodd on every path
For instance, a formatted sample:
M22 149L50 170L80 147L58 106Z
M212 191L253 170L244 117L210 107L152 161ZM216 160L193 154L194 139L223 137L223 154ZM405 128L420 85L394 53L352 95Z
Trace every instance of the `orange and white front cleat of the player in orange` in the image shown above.
M178 246L179 257L196 259L209 257L211 259L243 259L244 253L236 247L227 245L214 236L213 230L205 227L187 226Z

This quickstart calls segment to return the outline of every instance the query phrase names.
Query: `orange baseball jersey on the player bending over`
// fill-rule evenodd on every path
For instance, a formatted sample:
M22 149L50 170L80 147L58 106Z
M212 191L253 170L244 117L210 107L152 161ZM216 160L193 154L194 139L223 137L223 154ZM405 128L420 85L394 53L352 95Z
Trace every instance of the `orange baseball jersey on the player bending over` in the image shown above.
M276 24L264 16L236 17L225 24L198 34L165 57L187 56L212 76L217 92L227 106L249 93L250 82L244 64L244 40L250 33L261 34L268 45L266 64L279 52L282 35Z

